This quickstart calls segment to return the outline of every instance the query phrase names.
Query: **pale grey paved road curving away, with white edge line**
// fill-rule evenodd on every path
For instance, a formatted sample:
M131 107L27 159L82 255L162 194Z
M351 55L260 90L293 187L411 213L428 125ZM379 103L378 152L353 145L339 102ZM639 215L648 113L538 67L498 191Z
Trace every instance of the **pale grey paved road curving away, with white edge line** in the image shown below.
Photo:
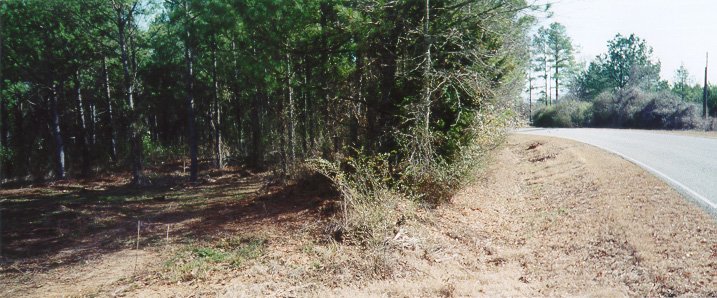
M682 194L717 211L717 139L621 129L522 129L610 151L645 168Z

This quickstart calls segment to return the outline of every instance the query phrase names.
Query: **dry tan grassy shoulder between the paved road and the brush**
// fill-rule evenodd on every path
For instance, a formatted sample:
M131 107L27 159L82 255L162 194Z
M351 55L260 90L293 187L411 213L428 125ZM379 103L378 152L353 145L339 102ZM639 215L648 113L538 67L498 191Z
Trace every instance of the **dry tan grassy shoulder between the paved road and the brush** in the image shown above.
M440 243L434 250L445 258L414 265L424 272L417 277L354 290L717 295L717 221L641 168L569 140L510 136L480 180L428 226L427 243Z

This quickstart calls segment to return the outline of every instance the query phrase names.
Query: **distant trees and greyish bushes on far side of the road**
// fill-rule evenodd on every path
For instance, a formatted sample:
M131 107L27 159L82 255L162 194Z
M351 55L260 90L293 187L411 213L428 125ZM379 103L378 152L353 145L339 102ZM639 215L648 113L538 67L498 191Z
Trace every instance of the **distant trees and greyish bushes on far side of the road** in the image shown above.
M560 23L541 27L532 37L526 91L535 125L717 127L713 118L717 115L717 86L695 83L684 65L675 71L672 83L661 78L662 66L644 39L617 34L607 42L607 52L588 65L576 61L574 48ZM566 92L561 96L560 91Z

